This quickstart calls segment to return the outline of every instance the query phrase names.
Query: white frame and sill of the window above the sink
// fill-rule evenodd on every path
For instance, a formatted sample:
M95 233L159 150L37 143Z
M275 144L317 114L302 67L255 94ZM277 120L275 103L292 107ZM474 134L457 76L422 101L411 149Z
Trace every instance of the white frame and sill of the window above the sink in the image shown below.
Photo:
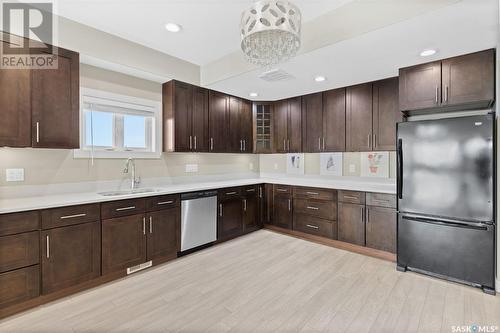
M85 104L99 103L128 111L113 113L113 147L86 145ZM131 111L130 111L131 110ZM145 116L146 148L124 147L124 114ZM148 123L149 122L149 123ZM104 90L80 88L80 148L74 158L159 159L162 154L162 103Z

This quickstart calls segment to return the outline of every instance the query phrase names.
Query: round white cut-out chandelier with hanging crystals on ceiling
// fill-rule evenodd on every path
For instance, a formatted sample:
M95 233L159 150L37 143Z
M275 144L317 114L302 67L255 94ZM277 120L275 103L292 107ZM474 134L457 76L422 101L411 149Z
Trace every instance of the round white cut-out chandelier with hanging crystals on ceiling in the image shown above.
M241 14L241 49L246 59L270 67L300 49L301 14L289 1L258 1Z

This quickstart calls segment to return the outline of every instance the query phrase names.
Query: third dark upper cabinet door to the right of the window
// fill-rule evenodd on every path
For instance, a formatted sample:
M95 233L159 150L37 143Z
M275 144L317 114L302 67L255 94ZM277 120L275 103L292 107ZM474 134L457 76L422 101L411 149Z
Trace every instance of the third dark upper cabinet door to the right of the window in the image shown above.
M213 90L209 96L209 151L224 153L228 149L229 97Z

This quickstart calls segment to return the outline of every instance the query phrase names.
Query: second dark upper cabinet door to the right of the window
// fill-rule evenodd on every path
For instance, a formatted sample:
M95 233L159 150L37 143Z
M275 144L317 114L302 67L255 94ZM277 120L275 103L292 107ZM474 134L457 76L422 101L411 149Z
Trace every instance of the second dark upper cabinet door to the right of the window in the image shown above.
M208 90L193 86L193 150L208 152Z

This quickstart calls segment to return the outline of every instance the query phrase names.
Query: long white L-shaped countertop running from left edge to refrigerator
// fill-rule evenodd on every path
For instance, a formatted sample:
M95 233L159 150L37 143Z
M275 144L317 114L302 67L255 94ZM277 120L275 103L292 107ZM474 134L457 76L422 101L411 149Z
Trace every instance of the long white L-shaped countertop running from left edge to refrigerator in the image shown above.
M361 180L325 180L325 179L310 179L310 178L294 178L294 177L261 177L233 180L219 180L212 182L196 182L196 183L174 183L154 187L154 192L136 193L120 196L103 196L97 192L74 192L47 194L32 197L6 198L0 199L0 214L14 213L28 210L64 207L72 205L81 205L89 203L99 203L106 201L116 201L131 198L143 198L164 194L187 193L194 191L213 190L219 188L245 186L255 184L281 184L295 186L309 186L330 188L338 190L353 190L363 192L377 193L396 193L396 185L392 182L370 182Z

